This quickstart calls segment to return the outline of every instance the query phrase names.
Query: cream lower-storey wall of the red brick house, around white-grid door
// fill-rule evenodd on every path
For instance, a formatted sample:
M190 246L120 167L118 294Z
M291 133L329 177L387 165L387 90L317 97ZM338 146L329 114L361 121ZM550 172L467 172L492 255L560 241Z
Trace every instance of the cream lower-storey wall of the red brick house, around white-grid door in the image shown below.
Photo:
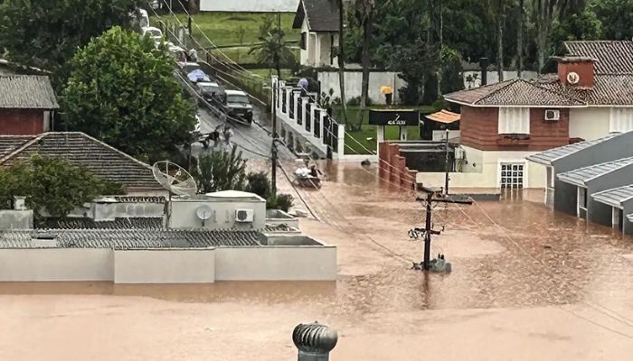
M541 164L528 162L525 157L537 152L483 152L463 146L468 164L464 164L462 172L449 174L450 188L497 189L499 187L500 162L525 162L524 188L545 188L546 171ZM418 172L416 182L426 187L444 187L444 173Z

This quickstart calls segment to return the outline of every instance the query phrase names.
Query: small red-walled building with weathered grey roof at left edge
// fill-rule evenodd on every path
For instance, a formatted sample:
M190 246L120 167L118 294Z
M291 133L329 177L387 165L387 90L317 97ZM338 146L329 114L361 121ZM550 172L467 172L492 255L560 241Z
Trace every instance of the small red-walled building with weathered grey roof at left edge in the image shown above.
M49 132L58 108L48 77L0 74L0 134Z

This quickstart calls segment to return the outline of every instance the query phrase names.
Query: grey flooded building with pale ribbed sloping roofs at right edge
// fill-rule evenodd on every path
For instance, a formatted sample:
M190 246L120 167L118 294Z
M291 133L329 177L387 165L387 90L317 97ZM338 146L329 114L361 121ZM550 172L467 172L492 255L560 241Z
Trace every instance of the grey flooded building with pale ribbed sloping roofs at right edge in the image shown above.
M548 206L633 234L625 217L633 213L626 191L633 183L633 131L564 145L527 159L547 169Z

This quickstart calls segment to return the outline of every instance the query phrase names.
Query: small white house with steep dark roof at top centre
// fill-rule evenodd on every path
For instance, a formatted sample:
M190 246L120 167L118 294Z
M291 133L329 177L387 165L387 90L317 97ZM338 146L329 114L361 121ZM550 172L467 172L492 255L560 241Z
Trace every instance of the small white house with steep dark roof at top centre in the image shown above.
M301 65L327 67L336 64L332 48L338 43L340 16L337 0L299 1L292 27L301 29Z

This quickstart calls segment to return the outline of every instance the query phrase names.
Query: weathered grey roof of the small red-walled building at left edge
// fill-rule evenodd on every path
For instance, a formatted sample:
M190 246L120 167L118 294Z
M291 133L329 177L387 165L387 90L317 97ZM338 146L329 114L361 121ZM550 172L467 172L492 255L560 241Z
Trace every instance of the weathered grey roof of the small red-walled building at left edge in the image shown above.
M40 75L0 75L0 108L57 109L51 81Z

